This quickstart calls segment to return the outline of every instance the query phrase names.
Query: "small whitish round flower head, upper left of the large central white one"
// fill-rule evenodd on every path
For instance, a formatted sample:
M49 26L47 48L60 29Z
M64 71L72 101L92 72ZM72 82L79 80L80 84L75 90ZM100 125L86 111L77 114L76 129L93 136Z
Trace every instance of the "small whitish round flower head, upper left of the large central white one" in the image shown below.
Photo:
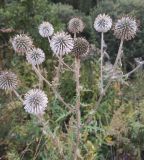
M53 33L54 33L54 28L52 24L50 24L49 22L43 22L42 24L40 24L39 34L42 37L50 37L53 35Z

